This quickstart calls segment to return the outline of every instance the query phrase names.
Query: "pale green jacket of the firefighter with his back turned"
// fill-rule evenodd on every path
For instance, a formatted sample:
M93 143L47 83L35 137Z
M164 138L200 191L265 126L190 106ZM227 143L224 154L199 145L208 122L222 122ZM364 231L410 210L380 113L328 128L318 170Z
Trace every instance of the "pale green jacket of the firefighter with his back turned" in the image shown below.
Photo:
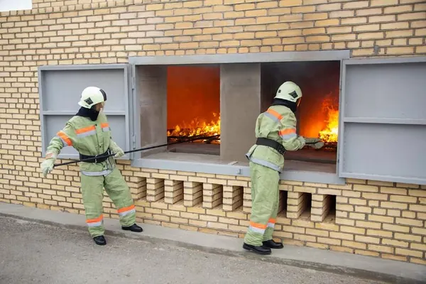
M256 138L270 138L282 144L287 151L297 151L303 147L303 143L297 139L296 122L295 114L288 107L271 106L256 120ZM251 146L246 157L253 163L278 172L284 168L284 156L268 146Z

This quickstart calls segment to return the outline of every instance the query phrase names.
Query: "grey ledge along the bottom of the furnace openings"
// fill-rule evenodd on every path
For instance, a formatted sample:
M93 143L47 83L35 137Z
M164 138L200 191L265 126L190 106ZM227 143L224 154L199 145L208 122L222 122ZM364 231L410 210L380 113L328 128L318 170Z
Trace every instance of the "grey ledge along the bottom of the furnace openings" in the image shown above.
M210 173L216 175L236 175L250 177L250 168L246 165L228 165L221 163L201 163L184 160L167 160L140 158L131 161L135 168L153 168L159 170L180 170L183 172ZM281 180L297 182L315 182L329 185L345 185L346 179L339 178L335 173L311 172L303 170L284 170L280 175Z

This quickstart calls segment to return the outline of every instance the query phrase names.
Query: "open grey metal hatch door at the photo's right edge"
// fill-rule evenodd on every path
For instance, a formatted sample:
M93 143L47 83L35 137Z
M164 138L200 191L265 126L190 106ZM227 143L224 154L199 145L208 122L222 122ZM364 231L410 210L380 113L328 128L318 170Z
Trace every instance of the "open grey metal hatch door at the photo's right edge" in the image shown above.
M343 60L339 176L426 185L426 58Z

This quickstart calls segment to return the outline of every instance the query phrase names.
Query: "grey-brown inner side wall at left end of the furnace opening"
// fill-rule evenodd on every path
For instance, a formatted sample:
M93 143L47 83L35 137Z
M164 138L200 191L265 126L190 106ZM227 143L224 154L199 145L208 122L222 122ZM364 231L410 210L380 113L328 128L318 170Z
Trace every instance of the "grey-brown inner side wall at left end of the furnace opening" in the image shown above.
M136 67L141 147L167 143L167 66ZM143 152L142 156L165 151L165 147Z

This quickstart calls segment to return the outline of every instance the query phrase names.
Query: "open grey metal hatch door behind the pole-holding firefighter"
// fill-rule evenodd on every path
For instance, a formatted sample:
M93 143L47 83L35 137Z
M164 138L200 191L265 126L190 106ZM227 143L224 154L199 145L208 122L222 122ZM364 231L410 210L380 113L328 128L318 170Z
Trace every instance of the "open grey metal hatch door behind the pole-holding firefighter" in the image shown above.
M112 138L124 150L131 150L129 96L131 92L128 64L111 65L48 65L38 69L42 156L50 139L74 116L77 102L85 87L97 86L107 93L104 113L111 127ZM63 148L58 158L79 157L72 147ZM129 160L126 154L122 159Z

